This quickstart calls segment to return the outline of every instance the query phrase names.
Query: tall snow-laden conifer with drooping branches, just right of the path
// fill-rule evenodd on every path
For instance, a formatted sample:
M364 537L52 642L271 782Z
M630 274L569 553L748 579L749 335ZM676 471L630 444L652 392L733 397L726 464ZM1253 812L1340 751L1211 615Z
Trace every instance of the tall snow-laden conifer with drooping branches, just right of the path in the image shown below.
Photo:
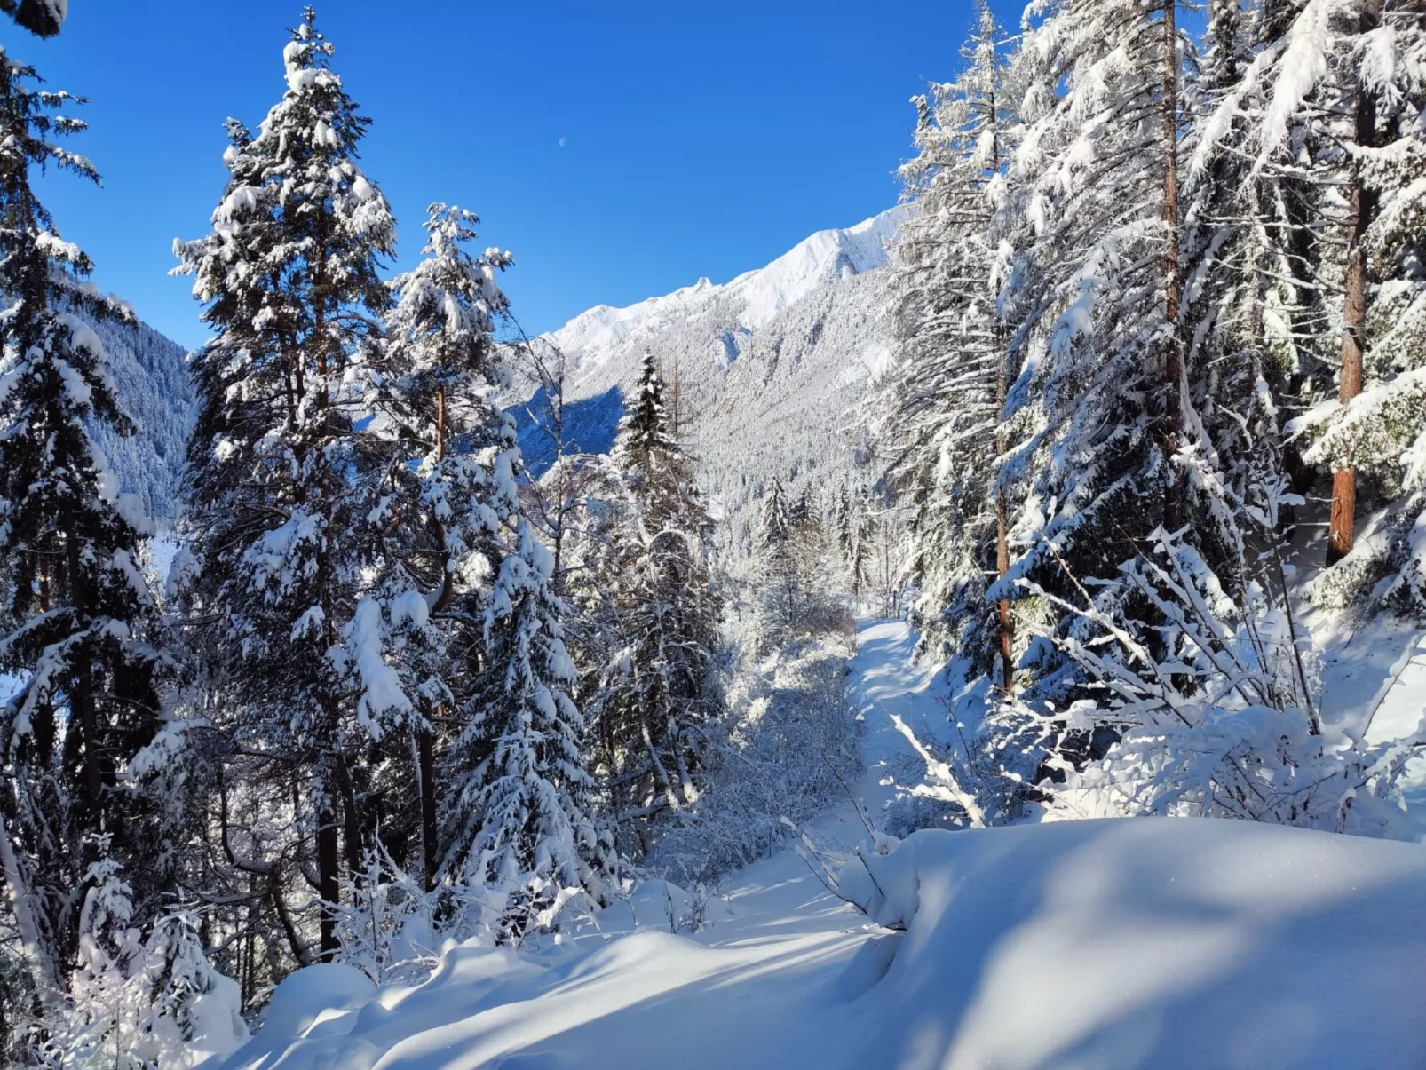
M1175 457L1185 43L1172 3L1055 0L1030 14L1015 61L1024 128L997 210L1022 243L1000 298L1020 368L1005 405L1020 441L1001 474L1022 488L1020 552L991 596L1034 578L1067 598L1107 581L1098 596L1114 598L1119 564L1159 525L1189 519ZM1050 613L1041 631L1081 626ZM1045 698L1075 686L1052 641L1022 663Z

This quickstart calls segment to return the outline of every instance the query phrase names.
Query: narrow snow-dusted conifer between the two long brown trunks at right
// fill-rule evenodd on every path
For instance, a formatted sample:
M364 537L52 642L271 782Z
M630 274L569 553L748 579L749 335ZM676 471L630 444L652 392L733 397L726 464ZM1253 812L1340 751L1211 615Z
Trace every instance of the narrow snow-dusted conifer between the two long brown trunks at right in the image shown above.
M1258 571L1252 548L1279 538L1279 505L1291 504L1282 495L1279 404L1301 367L1293 312L1285 311L1298 301L1283 251L1296 231L1285 223L1279 175L1256 174L1246 151L1255 123L1236 111L1252 47L1249 13L1215 3L1204 56L1186 83L1182 183L1185 357L1175 464L1192 542L1235 593Z

